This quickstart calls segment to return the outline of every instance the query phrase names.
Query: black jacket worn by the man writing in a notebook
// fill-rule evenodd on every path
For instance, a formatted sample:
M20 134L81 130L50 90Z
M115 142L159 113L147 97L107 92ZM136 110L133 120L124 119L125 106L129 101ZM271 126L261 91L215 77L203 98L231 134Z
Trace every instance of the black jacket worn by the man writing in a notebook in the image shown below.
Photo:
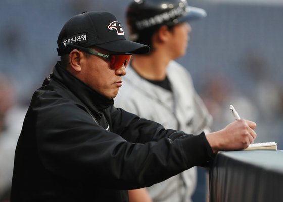
M128 201L125 190L213 159L204 133L165 130L113 104L58 62L25 117L11 201Z

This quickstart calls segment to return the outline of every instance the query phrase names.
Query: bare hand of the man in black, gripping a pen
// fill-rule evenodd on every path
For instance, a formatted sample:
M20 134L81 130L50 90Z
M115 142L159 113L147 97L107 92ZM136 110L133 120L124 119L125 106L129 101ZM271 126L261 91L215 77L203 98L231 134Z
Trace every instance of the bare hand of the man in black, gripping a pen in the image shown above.
M206 135L213 153L217 151L234 151L247 148L256 138L256 123L240 119L224 129Z

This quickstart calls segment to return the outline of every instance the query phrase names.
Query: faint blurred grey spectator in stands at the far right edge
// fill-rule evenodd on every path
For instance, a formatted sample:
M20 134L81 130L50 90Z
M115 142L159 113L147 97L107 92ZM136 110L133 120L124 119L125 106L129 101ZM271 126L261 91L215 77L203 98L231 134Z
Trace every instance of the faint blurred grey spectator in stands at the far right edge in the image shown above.
M260 110L263 122L273 123L281 118L283 108L281 106L282 86L278 85L270 72L267 58L256 51L249 51L242 61L243 71L253 81L251 93L254 104Z

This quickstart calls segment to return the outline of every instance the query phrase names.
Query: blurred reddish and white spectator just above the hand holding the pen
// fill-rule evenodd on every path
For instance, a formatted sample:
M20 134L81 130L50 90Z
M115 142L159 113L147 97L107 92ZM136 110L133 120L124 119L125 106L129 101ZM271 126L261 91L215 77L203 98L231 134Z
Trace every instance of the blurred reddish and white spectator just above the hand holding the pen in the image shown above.
M258 110L249 97L241 94L224 72L207 72L202 79L202 100L213 117L212 131L221 129L225 124L234 121L229 109L232 104L241 118L256 121Z

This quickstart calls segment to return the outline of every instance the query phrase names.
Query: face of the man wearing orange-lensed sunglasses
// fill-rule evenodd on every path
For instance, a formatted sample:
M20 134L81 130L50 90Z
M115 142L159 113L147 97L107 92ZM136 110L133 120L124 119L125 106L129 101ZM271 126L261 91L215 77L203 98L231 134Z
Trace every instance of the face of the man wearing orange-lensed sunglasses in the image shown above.
M115 54L101 48L93 50L106 55ZM79 78L108 99L115 98L122 86L122 76L126 75L125 66L113 70L110 68L109 59L93 54L84 57L82 62Z

